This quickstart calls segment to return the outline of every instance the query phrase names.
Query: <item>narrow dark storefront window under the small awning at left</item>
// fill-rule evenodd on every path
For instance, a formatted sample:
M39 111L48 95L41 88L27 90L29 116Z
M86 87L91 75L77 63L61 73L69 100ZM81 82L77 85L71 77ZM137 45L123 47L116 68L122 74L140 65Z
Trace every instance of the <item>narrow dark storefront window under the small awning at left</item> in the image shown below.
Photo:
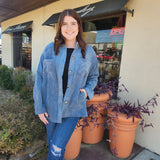
M14 67L31 70L31 30L13 33Z

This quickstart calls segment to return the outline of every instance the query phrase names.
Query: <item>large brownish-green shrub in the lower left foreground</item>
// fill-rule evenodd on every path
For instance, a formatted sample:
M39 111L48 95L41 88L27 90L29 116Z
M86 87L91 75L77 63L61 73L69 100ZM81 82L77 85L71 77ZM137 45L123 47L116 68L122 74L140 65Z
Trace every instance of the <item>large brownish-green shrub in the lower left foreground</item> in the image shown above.
M3 100L0 106L0 153L16 154L33 139L42 138L44 126L34 116L34 107L18 96Z

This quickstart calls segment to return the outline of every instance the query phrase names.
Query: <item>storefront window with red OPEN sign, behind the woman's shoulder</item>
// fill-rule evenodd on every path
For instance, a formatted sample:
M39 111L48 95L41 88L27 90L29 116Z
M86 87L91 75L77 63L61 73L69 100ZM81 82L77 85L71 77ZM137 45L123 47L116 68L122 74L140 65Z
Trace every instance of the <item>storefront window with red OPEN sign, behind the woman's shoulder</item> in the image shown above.
M119 77L125 32L125 15L83 22L84 37L96 52L99 80L107 82Z

